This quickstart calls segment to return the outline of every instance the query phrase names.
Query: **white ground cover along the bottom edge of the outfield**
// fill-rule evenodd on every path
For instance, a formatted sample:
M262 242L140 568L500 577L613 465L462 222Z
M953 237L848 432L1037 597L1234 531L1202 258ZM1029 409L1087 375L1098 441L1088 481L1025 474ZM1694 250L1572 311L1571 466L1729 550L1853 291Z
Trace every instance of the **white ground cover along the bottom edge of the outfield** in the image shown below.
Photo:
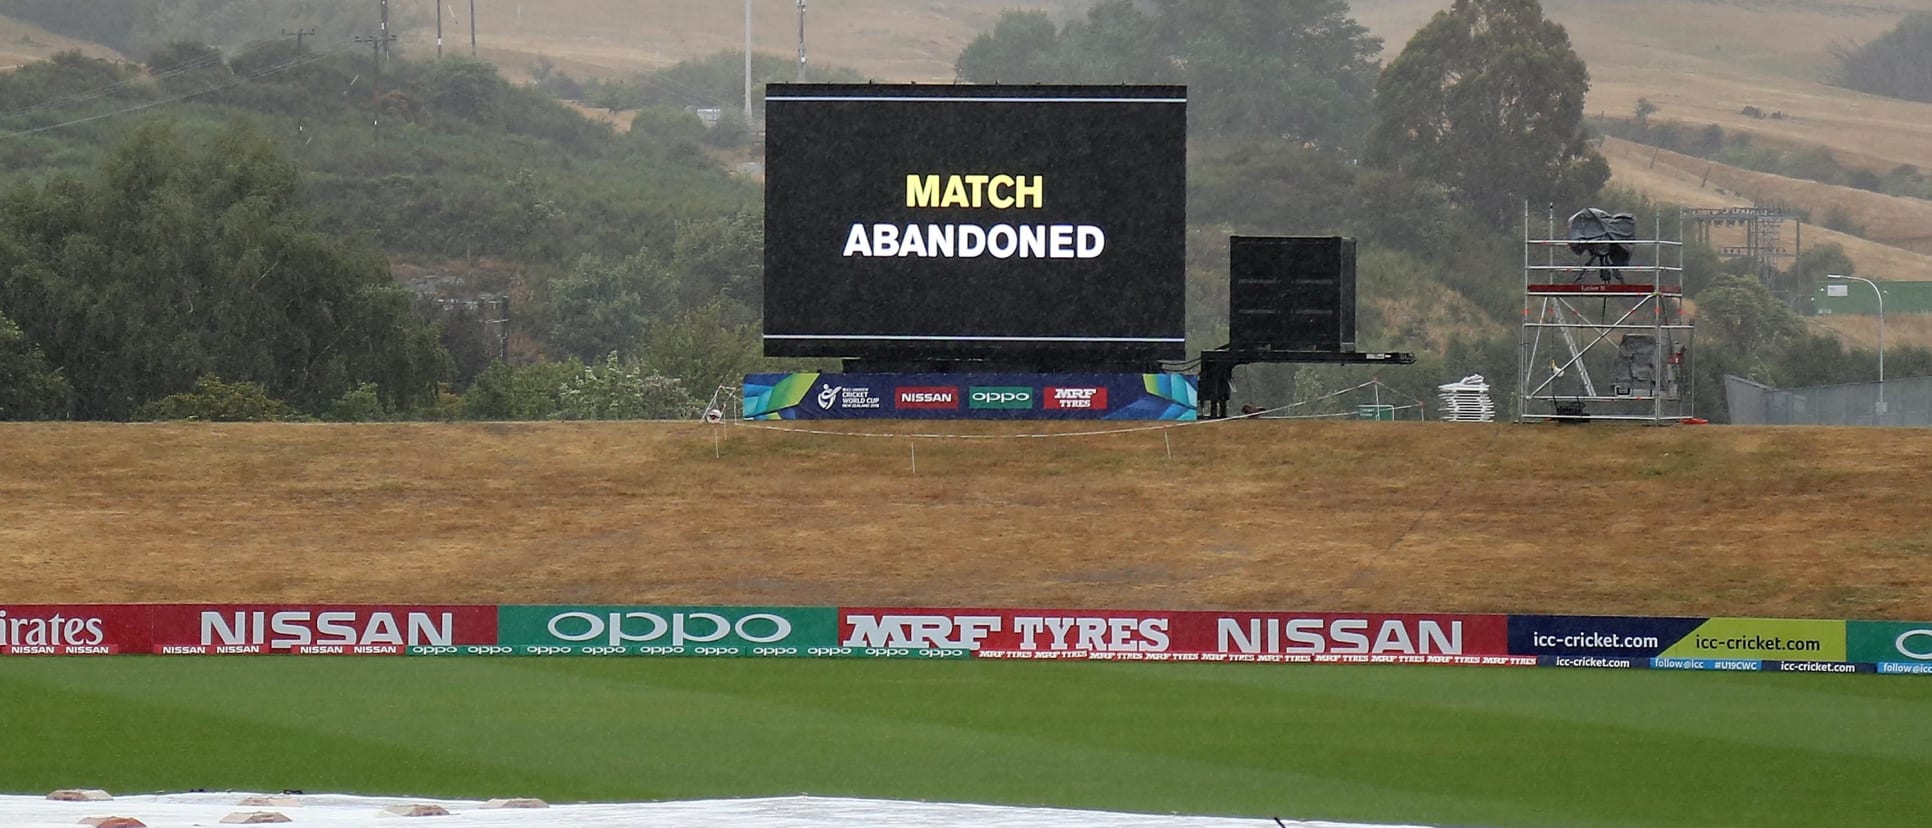
M253 803L243 805L243 801ZM267 803L263 803L267 801ZM448 814L398 816L390 809L435 805ZM249 795L156 793L118 795L108 801L48 801L0 795L0 824L10 828L73 828L102 824L106 816L131 816L147 828L245 824L238 814L272 811L290 826L398 828L450 826L651 826L651 828L1273 828L1273 818L1157 816L1105 811L1022 809L1001 805L904 803L885 799L769 797L705 799L672 803L595 803L545 809L485 809L481 801L350 797L350 795ZM431 809L433 811L433 809ZM265 824L265 822L255 822ZM1293 822L1293 828L1352 828L1343 822Z

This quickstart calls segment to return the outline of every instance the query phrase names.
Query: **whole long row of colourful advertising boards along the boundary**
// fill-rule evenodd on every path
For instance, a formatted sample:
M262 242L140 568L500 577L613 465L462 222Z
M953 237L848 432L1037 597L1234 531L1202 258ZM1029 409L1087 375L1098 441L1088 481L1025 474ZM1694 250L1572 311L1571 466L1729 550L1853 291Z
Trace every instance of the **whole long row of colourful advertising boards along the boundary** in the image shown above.
M0 604L0 656L852 656L1932 676L1932 621L920 606Z

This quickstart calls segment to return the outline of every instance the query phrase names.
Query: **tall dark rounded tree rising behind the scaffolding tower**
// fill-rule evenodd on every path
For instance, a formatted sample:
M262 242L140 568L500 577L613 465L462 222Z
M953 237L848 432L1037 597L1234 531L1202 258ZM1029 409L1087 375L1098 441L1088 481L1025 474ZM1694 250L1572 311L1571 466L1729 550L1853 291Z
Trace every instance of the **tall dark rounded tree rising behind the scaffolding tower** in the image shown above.
M1582 127L1588 91L1538 0L1455 0L1376 83L1366 160L1449 187L1503 230L1524 199L1577 205L1609 179Z

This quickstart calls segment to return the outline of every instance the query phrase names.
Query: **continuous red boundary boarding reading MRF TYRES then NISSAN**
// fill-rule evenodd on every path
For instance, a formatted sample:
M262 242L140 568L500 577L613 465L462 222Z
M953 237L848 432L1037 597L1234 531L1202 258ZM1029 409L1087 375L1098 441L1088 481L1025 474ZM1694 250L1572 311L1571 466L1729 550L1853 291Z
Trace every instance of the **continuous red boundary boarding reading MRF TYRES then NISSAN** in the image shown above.
M962 608L838 614L844 647L964 649L987 658L1150 660L1190 652L1242 656L1227 660L1372 656L1364 660L1432 664L1428 656L1511 656L1503 616ZM1517 662L1536 664L1536 658Z

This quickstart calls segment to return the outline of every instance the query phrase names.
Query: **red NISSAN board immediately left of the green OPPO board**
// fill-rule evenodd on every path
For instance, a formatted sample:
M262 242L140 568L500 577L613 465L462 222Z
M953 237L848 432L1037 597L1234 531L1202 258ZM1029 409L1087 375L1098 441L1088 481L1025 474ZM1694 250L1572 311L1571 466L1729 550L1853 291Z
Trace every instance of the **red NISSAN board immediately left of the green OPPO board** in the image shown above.
M156 604L160 654L406 654L497 643L495 606Z

